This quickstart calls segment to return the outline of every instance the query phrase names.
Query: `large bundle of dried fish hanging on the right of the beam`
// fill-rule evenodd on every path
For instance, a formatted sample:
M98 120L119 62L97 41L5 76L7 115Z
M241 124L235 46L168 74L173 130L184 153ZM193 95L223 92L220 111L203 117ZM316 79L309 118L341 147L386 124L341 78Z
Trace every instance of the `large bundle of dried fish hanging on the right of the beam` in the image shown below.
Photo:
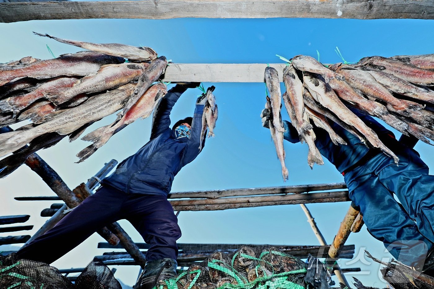
M287 177L285 152L279 121L280 89L276 69L267 67L265 81L270 91L266 107L272 110L270 129ZM334 144L346 144L330 127L329 120L357 136L366 145L378 148L398 163L398 157L376 133L349 108L377 117L404 135L432 144L434 113L434 54L422 56L365 57L354 65L323 66L310 56L295 56L283 70L286 92L283 102L300 141L309 145L308 164L323 164L315 147L312 124L325 129ZM269 103L270 102L270 103ZM312 120L312 123L310 122ZM277 129L273 129L277 128Z

